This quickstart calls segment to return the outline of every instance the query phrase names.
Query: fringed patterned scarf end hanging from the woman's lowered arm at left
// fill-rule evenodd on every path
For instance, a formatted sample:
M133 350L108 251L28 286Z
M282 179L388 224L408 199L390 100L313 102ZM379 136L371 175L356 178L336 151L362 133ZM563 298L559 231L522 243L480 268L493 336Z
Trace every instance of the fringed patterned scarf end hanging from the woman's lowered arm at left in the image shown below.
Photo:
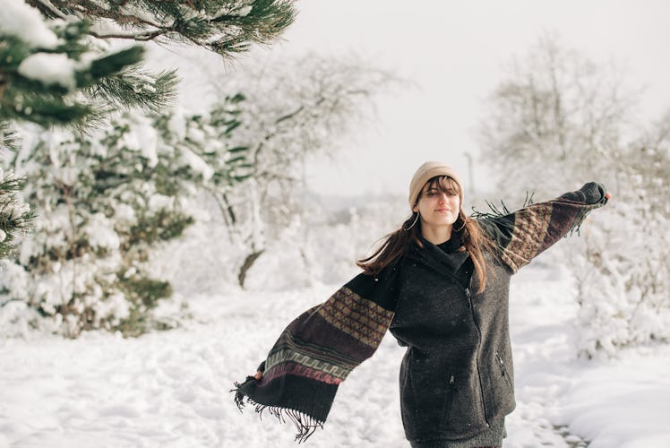
M235 383L238 408L246 401L256 412L290 418L298 441L322 427L339 383L374 354L391 324L397 272L361 273L289 323L258 367L262 379Z

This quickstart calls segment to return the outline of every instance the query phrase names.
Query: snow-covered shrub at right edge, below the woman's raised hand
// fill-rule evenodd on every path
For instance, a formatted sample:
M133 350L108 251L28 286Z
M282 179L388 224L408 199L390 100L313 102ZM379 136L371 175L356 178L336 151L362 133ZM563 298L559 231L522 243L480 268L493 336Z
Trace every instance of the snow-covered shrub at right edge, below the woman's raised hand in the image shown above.
M575 340L588 358L670 340L670 151L668 142L656 143L637 142L628 154L635 161L619 172L625 187L603 219L588 223L571 258L580 304Z

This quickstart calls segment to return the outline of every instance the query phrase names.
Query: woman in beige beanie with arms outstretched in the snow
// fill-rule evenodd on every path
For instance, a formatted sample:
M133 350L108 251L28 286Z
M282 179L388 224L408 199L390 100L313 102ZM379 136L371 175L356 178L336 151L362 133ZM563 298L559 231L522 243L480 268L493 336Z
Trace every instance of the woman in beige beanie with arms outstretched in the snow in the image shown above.
M514 409L511 275L578 228L610 195L588 183L509 214L467 217L452 168L426 162L409 185L412 216L363 272L281 333L236 402L291 418L303 441L325 422L339 383L387 329L407 352L400 403L413 447L501 446Z

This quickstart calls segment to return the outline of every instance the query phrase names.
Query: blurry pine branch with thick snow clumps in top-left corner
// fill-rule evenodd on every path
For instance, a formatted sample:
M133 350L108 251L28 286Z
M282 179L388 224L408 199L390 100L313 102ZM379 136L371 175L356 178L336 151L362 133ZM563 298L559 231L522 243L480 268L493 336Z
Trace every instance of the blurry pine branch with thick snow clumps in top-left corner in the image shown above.
M8 0L0 12L0 120L85 125L103 109L82 93L142 60L141 47L96 53L86 22L43 22L37 10ZM88 121L90 123L90 121Z

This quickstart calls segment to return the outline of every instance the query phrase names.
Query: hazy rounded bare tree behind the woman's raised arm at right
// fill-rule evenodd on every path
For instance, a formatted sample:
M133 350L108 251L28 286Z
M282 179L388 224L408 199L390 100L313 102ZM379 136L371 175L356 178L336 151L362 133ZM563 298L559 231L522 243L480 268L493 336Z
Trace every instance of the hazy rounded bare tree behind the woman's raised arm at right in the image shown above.
M631 132L635 98L617 67L598 66L545 36L508 65L490 96L480 126L482 158L494 162L504 193L547 193L603 174L609 181L606 172Z

